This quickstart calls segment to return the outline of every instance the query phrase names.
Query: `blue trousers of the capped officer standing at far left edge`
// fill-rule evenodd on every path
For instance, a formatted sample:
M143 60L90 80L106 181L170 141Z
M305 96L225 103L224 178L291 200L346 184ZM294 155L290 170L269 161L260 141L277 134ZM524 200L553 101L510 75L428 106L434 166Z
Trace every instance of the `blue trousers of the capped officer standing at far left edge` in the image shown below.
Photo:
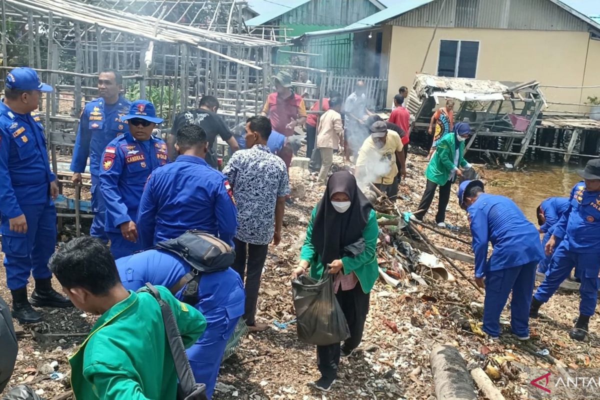
M10 230L8 217L1 216L2 251L6 281L10 290L27 284L29 275L35 279L50 278L48 260L56 246L56 208L52 200L44 204L23 204L27 233Z

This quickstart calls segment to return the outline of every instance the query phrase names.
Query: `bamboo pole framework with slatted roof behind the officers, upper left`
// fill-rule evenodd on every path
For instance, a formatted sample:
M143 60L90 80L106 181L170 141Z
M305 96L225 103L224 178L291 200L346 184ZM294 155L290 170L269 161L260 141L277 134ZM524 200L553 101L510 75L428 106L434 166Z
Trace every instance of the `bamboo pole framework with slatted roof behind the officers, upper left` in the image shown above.
M121 9L119 3L2 0L2 74L28 65L55 88L41 100L40 113L52 169L65 195L58 204L66 210L59 216L74 216L77 234L82 212L91 206L80 199L80 185L71 184L70 154L82 107L97 97L98 71L121 71L127 97L155 103L166 119L164 126L180 110L197 106L203 94L220 100L220 113L233 125L260 112L271 86L272 48L281 45L243 34L232 17L240 14L235 1L212 2L227 7L228 19L209 21L204 28L193 18L188 19L191 25L172 22L183 18L173 17L173 10L179 6L189 14L193 5L208 2L184 1L188 4L182 7L180 1L163 1L151 15L146 10L142 16L129 12L139 11L139 0L124 1Z

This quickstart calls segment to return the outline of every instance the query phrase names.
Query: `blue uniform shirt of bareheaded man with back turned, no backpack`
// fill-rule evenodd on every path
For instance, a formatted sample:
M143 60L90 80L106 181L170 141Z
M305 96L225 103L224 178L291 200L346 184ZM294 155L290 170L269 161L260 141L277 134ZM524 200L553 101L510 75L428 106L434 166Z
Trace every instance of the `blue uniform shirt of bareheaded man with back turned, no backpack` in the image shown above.
M143 249L189 229L208 232L233 246L237 227L227 178L203 158L180 155L152 172L137 214Z

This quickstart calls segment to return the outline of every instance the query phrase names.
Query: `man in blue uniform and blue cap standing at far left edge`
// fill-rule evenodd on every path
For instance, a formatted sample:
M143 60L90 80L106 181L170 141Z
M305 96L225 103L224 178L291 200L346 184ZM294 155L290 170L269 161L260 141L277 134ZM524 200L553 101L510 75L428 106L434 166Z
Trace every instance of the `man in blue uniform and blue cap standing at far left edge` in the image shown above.
M41 92L52 87L40 82L31 68L7 74L0 103L0 233L13 317L20 323L42 320L35 306L69 307L71 302L52 288L48 260L56 245L56 176L50 171L44 127L32 114ZM27 281L33 273L31 303Z

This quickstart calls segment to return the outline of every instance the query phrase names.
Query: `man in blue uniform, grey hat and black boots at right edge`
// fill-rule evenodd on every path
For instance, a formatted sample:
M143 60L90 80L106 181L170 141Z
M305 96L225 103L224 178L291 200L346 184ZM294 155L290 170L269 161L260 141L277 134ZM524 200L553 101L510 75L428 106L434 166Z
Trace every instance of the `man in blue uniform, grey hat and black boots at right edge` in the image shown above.
M569 336L583 341L596 309L600 284L600 159L588 161L579 175L583 181L571 190L569 208L546 243L546 254L554 254L544 282L533 295L530 315L539 316L541 305L550 299L575 266L575 276L581 280L581 302L579 317L575 327L569 330ZM559 237L563 240L557 246Z

